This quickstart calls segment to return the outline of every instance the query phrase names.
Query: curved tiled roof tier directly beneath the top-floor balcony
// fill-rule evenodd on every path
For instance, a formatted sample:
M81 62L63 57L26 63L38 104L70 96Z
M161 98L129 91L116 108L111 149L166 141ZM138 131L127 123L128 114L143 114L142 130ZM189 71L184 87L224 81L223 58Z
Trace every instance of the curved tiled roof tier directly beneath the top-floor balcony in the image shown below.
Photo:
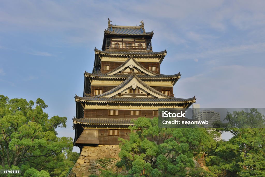
M160 52L127 52L127 51L102 51L99 49L95 49L95 52L101 54L116 54L116 55L163 55L167 53L166 50Z

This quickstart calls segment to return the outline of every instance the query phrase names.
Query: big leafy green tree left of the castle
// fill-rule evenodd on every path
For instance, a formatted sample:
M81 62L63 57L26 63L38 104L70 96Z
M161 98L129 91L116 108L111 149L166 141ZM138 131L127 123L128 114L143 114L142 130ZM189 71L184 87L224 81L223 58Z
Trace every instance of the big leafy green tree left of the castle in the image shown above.
M72 138L57 137L66 127L66 117L43 112L40 98L34 102L0 95L0 165L21 169L23 176L66 176L78 154L72 152Z

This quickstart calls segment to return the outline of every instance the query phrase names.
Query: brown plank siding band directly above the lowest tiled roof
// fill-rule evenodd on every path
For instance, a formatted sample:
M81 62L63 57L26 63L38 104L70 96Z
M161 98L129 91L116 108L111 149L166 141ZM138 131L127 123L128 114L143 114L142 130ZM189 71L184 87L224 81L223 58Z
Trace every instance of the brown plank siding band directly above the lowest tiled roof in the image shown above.
M131 110L118 110L118 115L109 115L108 109L85 109L85 117L87 118L138 118L147 117L154 118L153 110L141 110L141 115L131 115Z

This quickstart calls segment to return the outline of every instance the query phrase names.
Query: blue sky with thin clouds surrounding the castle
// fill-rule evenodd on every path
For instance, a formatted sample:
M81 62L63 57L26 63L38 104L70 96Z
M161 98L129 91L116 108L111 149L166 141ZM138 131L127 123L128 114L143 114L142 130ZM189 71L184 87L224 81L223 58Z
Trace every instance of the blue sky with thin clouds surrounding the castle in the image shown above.
M67 116L92 71L108 18L154 30L167 49L162 74L182 74L175 97L201 107L265 107L265 1L0 1L0 94L42 98L49 116Z

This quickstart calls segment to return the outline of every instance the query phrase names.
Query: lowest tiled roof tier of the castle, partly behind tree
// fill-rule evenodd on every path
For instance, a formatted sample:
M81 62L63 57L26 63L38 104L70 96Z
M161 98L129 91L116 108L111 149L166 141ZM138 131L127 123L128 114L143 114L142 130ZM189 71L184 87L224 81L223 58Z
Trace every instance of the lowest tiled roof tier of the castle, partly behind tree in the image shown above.
M111 119L111 118L74 118L73 121L76 123L90 124L90 125L133 125L132 119Z

